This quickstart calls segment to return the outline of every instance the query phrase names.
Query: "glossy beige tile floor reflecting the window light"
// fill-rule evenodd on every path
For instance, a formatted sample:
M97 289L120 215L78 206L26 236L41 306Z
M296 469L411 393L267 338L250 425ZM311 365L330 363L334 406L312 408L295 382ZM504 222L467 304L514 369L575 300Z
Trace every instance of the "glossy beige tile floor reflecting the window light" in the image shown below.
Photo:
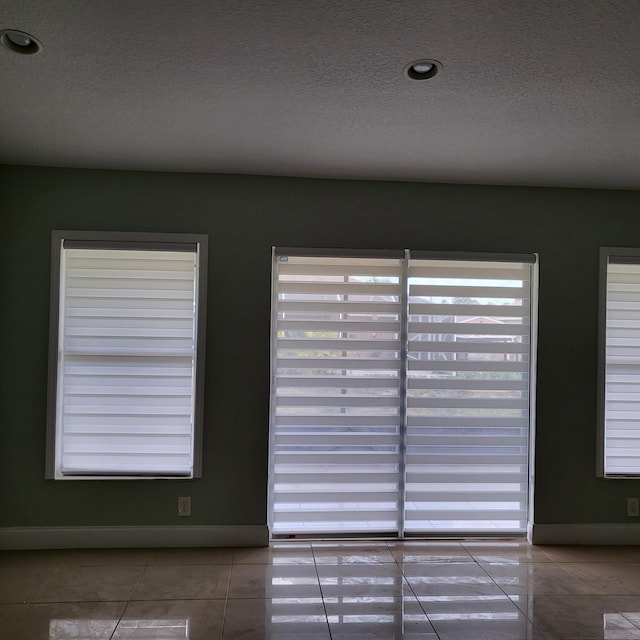
M0 639L640 640L640 546L0 552Z

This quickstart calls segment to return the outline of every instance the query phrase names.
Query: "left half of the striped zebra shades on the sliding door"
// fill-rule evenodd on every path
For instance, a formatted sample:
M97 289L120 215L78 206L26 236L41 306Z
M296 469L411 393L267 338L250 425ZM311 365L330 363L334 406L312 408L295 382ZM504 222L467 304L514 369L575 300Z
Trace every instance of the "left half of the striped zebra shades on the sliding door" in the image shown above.
M396 531L401 261L277 258L273 532Z

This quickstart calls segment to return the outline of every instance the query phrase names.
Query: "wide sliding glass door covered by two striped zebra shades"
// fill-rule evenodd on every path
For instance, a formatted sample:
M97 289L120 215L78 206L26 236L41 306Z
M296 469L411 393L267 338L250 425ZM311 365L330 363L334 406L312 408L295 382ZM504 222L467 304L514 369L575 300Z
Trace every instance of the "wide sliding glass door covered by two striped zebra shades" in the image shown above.
M524 258L274 252L274 535L524 530Z

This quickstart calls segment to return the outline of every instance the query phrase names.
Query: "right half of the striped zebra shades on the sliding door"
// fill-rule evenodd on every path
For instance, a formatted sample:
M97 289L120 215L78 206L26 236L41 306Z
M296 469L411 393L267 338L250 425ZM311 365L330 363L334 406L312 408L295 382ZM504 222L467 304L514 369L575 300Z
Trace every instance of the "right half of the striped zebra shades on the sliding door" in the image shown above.
M532 265L411 260L405 531L522 531Z

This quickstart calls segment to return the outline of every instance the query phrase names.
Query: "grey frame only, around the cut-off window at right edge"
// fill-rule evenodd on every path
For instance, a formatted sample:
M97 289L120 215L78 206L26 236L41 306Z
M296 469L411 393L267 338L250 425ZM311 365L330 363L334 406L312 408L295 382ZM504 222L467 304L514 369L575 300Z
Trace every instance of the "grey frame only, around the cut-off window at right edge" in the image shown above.
M613 260L612 260L613 259ZM597 424L596 424L596 477L606 480L637 480L635 473L612 474L606 469L607 441L607 303L608 267L614 264L636 264L640 268L640 249L630 247L601 247L598 273L598 372L597 372ZM638 365L640 368L640 365Z

